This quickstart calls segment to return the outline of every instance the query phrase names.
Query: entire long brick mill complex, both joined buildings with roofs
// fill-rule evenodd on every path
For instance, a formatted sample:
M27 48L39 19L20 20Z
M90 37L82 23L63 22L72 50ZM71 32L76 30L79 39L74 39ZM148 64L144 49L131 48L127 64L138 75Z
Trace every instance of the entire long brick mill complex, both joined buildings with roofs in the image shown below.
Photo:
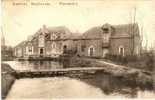
M64 26L40 28L15 47L16 57L53 56L72 53L79 56L105 57L139 55L141 39L138 24L93 27L81 36Z

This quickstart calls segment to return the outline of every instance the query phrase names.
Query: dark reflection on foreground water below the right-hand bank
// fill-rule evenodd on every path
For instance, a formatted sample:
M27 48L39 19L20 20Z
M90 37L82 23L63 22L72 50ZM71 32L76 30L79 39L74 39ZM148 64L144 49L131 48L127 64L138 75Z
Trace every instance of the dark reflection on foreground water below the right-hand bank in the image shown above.
M134 98L137 96L137 86L120 77L114 77L109 74L96 73L92 78L80 79L81 81L100 88L104 94L113 93L126 95Z

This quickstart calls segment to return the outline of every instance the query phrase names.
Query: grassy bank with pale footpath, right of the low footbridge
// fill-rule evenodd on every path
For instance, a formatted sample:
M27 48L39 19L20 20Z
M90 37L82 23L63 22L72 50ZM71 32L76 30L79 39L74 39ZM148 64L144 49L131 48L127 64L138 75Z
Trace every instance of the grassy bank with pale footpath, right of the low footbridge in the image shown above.
M104 67L105 72L110 73L114 77L125 79L128 83L134 82L135 86L141 89L153 89L153 77L151 72L133 67L111 65L104 63L99 59L90 59L84 57L73 57L69 62L70 67Z

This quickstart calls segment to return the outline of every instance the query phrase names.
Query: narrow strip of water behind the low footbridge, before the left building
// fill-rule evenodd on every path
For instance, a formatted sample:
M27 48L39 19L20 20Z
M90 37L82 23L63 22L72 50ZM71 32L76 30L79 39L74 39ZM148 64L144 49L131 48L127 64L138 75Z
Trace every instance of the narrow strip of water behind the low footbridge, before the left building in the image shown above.
M51 70L63 68L63 64L54 61L8 61L5 62L11 65L15 70Z

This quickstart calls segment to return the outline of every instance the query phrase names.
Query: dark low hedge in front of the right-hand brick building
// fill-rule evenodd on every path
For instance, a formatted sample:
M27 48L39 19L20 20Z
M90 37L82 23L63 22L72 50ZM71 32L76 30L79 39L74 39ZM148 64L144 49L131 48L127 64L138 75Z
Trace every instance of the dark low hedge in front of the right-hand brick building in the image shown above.
M146 52L140 56L136 55L107 55L106 59L109 59L117 64L122 64L129 67L144 69L147 71L152 71L154 67L154 55L153 52Z

